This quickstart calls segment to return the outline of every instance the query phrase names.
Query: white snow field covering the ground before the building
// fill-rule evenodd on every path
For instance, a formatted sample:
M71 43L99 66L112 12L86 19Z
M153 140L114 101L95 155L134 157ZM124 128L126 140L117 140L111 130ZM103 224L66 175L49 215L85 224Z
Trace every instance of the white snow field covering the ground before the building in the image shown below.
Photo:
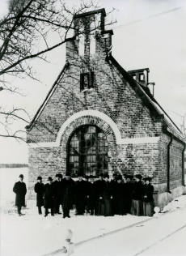
M15 194L12 187L20 171L14 171L11 177L8 176L10 172L1 172L1 256L57 255L50 253L61 249L66 229L71 229L74 234L74 256L186 255L186 250L185 254L181 254L180 251L180 245L183 248L186 228L159 243L159 240L186 224L186 195L175 198L163 209L167 213L159 214L158 218L133 215L76 217L74 211L70 211L70 219L63 219L62 215L48 215L44 218L44 209L43 215L38 215L37 207L23 208L22 212L25 215L19 217L14 206ZM12 178L13 185L5 186ZM130 225L132 227L129 228ZM120 228L123 230L115 232ZM97 238L91 239L94 237ZM175 237L175 240L172 237ZM88 239L91 240L87 241ZM154 246L146 250L151 245ZM171 246L174 250L171 250ZM167 253L169 249L171 253Z

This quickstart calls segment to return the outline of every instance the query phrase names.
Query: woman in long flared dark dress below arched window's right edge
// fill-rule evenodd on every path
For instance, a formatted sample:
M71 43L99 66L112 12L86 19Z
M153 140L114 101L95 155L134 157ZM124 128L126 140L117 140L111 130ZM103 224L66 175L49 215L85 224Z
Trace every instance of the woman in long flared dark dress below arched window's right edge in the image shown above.
M98 215L112 216L112 185L108 179L108 174L105 174L103 190L99 194L100 203Z

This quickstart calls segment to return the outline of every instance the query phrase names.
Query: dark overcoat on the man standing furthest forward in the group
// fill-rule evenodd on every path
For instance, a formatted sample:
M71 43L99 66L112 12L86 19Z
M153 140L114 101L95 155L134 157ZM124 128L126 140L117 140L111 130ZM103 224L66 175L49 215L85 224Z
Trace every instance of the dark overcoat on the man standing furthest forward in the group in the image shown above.
M70 180L64 178L61 183L61 204L66 208L72 209L74 204L74 181L71 178Z

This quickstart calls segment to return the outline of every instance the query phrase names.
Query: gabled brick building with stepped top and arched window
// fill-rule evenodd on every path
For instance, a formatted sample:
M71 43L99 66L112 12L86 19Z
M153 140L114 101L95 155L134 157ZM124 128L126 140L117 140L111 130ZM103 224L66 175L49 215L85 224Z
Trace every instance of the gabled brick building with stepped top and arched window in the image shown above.
M37 176L45 182L68 169L72 177L154 177L155 202L163 207L184 192L183 134L150 93L150 70L127 72L112 57L105 16L104 9L74 16L83 34L66 42L66 65L26 127L29 200Z

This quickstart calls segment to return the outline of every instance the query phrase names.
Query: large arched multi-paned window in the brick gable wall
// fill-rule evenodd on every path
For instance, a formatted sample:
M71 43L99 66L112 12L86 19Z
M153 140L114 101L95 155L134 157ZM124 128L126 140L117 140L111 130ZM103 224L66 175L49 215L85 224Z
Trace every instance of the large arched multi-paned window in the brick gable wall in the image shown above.
M108 172L108 140L97 126L80 126L68 145L68 169L71 176L78 173L99 176Z

